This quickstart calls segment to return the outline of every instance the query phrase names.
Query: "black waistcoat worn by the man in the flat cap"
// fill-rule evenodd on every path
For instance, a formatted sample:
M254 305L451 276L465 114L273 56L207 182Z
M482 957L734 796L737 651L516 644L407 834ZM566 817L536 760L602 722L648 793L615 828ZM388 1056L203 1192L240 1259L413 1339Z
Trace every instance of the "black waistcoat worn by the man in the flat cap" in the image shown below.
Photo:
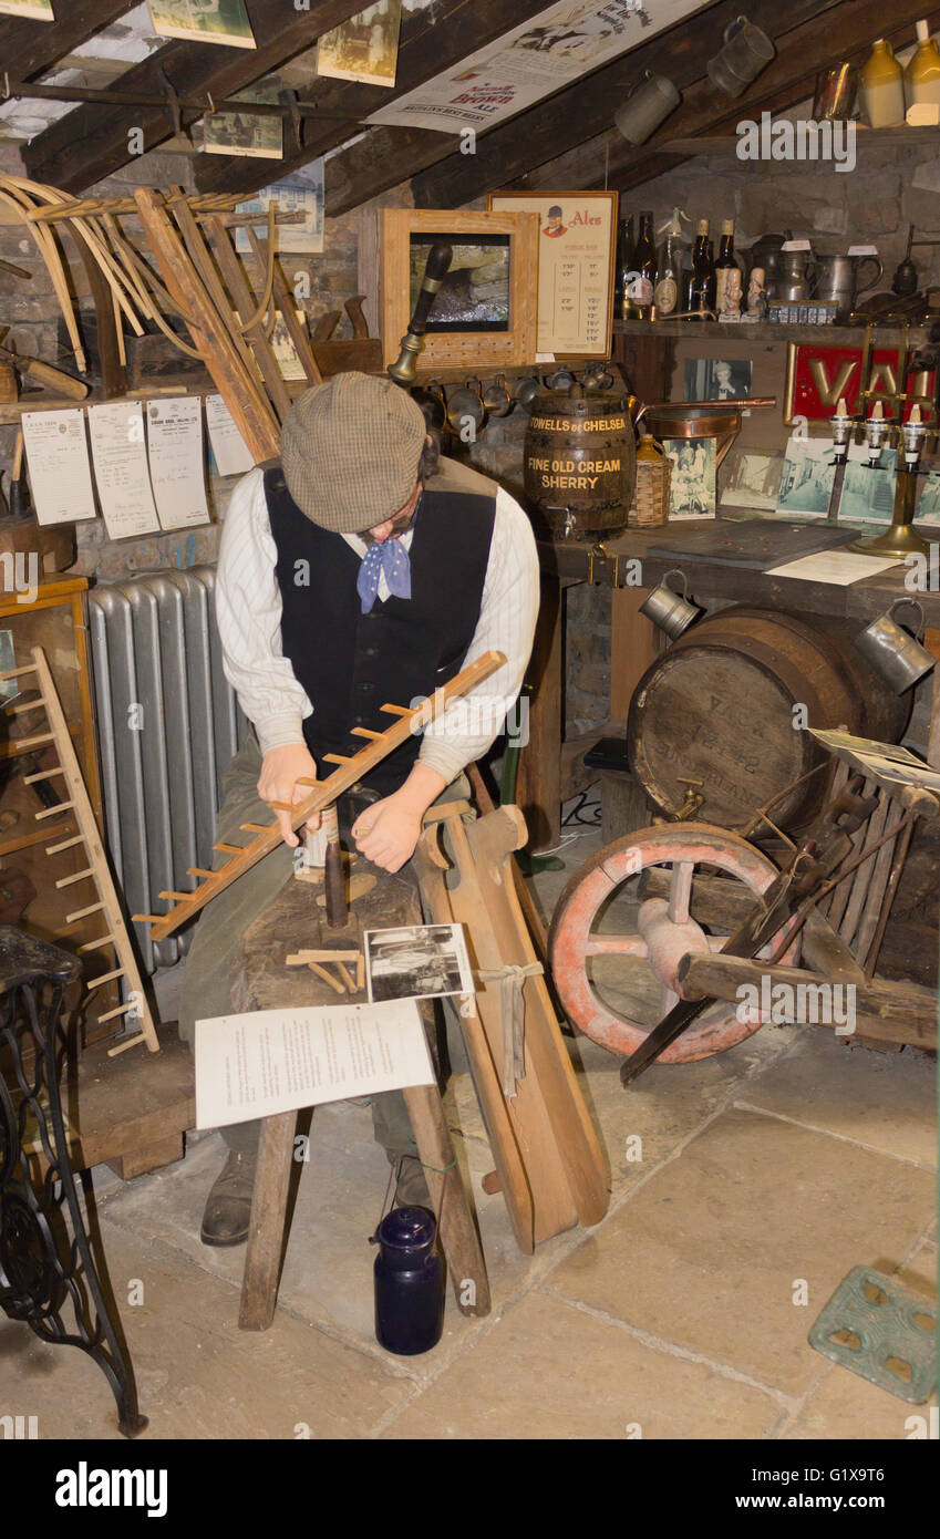
M426 489L411 540L411 599L375 599L362 614L360 557L342 534L318 528L291 497L280 466L265 472L277 545L282 646L314 711L303 723L318 774L323 754L352 754L394 717L382 705L411 705L460 671L480 619L495 499ZM422 745L409 737L365 777L383 796L408 777Z

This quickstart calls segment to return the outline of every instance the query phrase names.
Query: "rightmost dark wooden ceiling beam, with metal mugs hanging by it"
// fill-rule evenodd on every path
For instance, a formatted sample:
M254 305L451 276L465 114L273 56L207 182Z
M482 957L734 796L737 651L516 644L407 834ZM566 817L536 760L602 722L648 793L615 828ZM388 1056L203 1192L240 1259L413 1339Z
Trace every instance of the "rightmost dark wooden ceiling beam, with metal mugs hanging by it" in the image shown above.
M931 26L940 22L940 11L935 9L931 15L923 9L923 0L920 9L917 0L895 0L886 26L882 0L842 0L835 17L818 15L780 38L777 58L737 100L717 100L711 80L705 77L685 92L682 106L646 145L635 148L611 128L569 154L526 172L514 185L520 189L588 189L606 183L622 192L642 186L689 159L686 154L669 152L666 146L672 140L731 134L742 119L785 112L811 97L817 74L832 62L834 29L838 34L838 57L862 63L875 32L888 37L895 48L903 48L914 42L914 22L925 15Z

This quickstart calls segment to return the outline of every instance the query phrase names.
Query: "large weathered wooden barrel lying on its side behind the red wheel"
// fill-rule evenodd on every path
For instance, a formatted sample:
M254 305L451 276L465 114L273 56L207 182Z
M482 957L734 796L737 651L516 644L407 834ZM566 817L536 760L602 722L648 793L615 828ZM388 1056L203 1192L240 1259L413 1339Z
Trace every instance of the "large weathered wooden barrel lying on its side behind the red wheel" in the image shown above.
M855 626L857 628L857 626ZM683 779L702 780L697 817L740 830L752 813L828 754L803 726L897 742L911 713L851 645L840 620L722 609L680 636L643 674L628 720L631 770L666 816ZM800 709L803 708L803 709ZM820 771L771 817L805 828L822 805Z

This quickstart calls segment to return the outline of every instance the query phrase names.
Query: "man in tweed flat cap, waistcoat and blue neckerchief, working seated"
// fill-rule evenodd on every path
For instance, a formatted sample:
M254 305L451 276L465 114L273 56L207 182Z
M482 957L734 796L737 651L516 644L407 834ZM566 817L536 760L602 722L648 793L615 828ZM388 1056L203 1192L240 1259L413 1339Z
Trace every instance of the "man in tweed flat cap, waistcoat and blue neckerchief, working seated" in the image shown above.
M215 611L226 677L252 733L232 760L220 843L297 802L328 753L351 754L351 728L382 731L386 700L429 697L495 649L506 663L389 754L340 803L357 850L385 871L414 853L432 802L465 794L462 771L491 746L522 686L538 609L535 542L502 488L438 462L425 417L388 379L338 374L297 399L280 465L235 488L225 522ZM468 729L469 728L469 729ZM472 729L472 731L471 731ZM457 783L457 790L454 790ZM285 843L206 906L186 960L180 1033L228 1014L229 968L248 925L292 877ZM375 1137L397 1171L398 1202L426 1199L405 1099L372 1102ZM203 1216L208 1245L248 1236L258 1123L223 1130L229 1156Z

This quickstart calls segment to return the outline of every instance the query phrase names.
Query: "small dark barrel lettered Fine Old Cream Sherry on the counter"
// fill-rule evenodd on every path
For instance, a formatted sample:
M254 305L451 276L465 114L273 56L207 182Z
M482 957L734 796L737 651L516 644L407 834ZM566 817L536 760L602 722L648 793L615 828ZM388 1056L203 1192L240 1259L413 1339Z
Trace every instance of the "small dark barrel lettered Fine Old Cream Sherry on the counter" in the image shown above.
M634 428L617 391L535 396L525 443L525 488L552 534L597 539L626 528L637 480Z

